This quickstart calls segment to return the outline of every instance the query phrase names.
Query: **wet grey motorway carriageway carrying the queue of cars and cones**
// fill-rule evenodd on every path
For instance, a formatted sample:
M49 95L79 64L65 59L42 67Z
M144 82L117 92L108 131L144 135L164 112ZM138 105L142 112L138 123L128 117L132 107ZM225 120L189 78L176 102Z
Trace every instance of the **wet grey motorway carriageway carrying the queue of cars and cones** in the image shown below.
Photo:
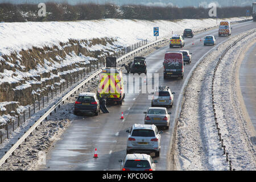
M255 22L245 22L234 24L232 27L232 36L241 32L255 28ZM188 27L189 28L189 27ZM228 40L229 37L218 37L217 28L207 32L195 35L193 38L185 38L185 47L192 52L192 63L184 67L184 79L174 78L163 80L163 57L169 46L159 48L157 51L146 56L148 75L159 73L159 85L170 86L174 94L174 106L171 109L171 125L169 130L163 130L161 138L161 151L156 163L156 170L171 170L170 161L167 158L170 155L172 146L172 136L174 131L174 114L177 108L177 98L181 88L187 78L188 72L193 68L196 61L205 55L213 46L203 46L203 37L206 35L216 36L217 43ZM202 42L200 42L202 38ZM194 45L192 45L192 42ZM179 50L180 48L172 48ZM124 73L126 75L126 73ZM125 76L124 76L125 77ZM142 81L142 85L143 85ZM131 85L130 85L131 86ZM129 86L129 89L131 88ZM141 87L134 86L134 90L141 90ZM143 111L151 106L148 99L150 93L127 93L122 105L112 105L108 109L110 113L98 116L77 116L72 119L72 124L67 131L58 140L51 151L47 154L46 166L41 170L55 171L103 171L119 170L119 159L126 155L126 129L134 123L144 123ZM120 119L123 112L125 119ZM73 118L73 117L72 117ZM97 148L98 158L93 158L94 150Z

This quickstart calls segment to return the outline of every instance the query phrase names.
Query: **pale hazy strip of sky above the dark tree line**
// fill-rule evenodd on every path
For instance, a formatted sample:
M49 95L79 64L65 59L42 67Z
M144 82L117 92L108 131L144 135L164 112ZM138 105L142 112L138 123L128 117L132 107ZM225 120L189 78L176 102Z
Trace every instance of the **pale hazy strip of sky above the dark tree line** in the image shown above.
M147 5L147 6L203 6L207 7L209 3L215 2L218 6L246 6L251 4L255 0L0 0L1 2L11 2L11 3L40 3L40 2L67 2L71 5L76 5L77 3L88 3L93 2L96 4L112 3L115 5L127 5L127 4L137 4L137 5Z

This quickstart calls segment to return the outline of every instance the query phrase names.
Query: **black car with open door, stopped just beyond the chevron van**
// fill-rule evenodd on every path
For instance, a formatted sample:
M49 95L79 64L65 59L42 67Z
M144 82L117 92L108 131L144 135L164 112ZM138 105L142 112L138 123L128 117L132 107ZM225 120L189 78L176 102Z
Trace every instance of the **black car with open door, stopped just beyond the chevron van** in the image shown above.
M145 61L145 57L134 57L133 62L128 64L123 64L127 73L145 73L147 75L147 63Z

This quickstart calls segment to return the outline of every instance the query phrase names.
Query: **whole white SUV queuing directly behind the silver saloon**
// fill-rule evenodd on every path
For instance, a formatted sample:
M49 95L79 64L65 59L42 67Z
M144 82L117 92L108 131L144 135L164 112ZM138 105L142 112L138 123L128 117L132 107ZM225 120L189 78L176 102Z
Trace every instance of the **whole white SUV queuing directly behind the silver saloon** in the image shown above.
M160 154L160 139L163 131L158 131L155 125L134 124L127 138L126 154L155 152L155 156Z

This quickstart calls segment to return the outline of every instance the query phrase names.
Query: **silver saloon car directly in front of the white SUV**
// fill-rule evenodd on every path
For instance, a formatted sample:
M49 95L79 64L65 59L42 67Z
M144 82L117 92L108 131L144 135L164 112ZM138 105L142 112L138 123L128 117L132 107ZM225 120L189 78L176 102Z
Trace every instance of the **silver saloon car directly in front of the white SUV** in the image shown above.
M164 126L169 129L171 113L168 113L166 107L149 107L143 113L145 114L145 125Z

